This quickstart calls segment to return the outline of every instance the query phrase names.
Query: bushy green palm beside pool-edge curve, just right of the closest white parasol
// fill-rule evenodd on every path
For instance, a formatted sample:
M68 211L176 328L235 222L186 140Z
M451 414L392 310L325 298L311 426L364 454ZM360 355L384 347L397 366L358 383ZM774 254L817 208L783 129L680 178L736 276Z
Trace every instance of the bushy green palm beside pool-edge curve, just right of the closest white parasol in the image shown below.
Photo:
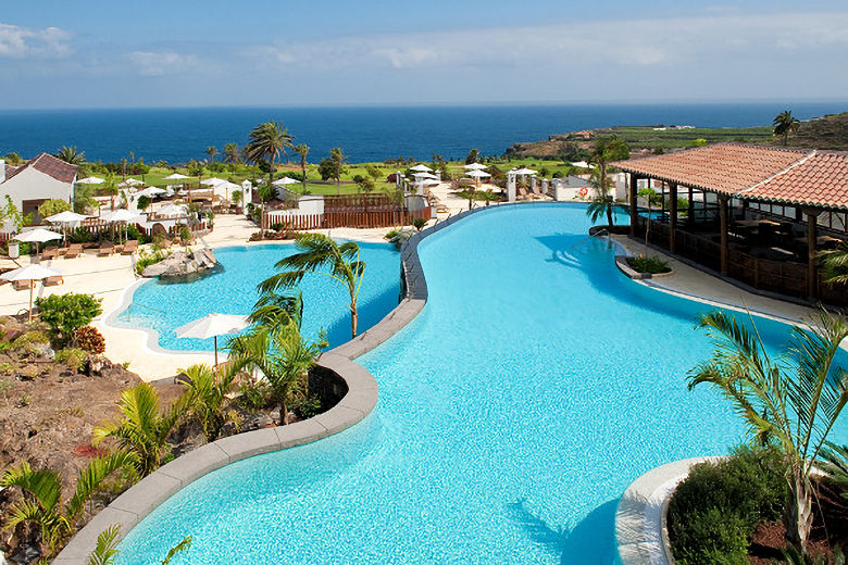
M264 375L271 401L279 407L279 424L286 425L288 403L296 391L307 393L309 371L315 366L324 343L305 341L294 319L285 324L259 324L230 347L234 364Z

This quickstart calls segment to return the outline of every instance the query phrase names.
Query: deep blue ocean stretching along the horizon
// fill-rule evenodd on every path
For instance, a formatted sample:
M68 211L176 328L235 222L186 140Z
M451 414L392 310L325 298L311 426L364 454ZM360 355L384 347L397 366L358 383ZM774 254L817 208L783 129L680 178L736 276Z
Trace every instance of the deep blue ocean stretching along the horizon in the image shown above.
M500 155L517 141L614 125L769 125L789 108L800 120L848 110L846 102L712 104L572 104L421 108L196 108L122 110L0 110L0 155L32 158L76 146L89 161L144 158L185 163L205 149L239 146L250 129L280 121L310 162L340 147L350 162L388 158L464 158L472 148ZM217 158L221 159L221 158Z

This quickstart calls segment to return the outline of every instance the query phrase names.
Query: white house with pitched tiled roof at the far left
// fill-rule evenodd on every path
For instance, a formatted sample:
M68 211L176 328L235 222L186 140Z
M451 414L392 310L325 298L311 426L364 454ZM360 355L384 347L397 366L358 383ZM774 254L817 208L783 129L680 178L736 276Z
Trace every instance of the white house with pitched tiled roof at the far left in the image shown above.
M45 201L73 202L77 168L48 153L16 167L0 160L0 204L9 196L17 210L33 214L33 223L39 224L38 206Z

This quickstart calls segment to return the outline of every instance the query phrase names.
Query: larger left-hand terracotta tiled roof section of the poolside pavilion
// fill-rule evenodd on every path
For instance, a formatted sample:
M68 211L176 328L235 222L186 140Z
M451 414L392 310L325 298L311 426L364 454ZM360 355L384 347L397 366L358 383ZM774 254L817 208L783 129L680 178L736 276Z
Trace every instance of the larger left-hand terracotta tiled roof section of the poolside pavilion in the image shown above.
M719 143L613 164L659 180L735 194L778 174L807 154L799 150Z

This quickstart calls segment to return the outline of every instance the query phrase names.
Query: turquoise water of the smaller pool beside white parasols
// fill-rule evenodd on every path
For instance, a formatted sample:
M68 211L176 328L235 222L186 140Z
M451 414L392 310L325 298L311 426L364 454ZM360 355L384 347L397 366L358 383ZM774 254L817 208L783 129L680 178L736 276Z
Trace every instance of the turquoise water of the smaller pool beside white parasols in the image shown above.
M170 350L212 351L212 339L177 339L174 328L210 312L249 314L257 301L257 285L276 273L274 264L295 253L295 246L237 246L215 250L224 267L194 282L151 279L136 289L132 304L117 322L155 330L160 347ZM400 254L389 243L360 243L365 275L359 298L359 330L366 330L398 305ZM308 275L303 291L303 334L317 337L326 330L331 347L350 339L349 296L345 287L321 275ZM223 340L219 340L223 344Z

